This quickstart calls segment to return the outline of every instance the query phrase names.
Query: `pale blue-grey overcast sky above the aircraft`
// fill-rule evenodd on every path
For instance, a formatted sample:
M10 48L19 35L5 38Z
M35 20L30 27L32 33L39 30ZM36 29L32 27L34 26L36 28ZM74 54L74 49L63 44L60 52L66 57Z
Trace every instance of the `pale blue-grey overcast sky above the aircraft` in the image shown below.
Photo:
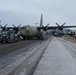
M0 0L1 25L76 25L76 0ZM38 24L38 25L39 25Z

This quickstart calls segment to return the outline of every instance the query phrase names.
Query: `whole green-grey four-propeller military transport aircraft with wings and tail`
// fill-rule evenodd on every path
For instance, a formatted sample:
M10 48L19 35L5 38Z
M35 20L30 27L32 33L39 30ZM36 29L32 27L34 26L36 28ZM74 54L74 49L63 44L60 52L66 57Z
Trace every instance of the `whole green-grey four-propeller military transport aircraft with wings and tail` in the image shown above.
M74 26L64 26L64 24L62 24L61 26L56 23L57 26L48 26L49 23L46 26L43 26L43 15L41 14L41 18L40 18L40 26L22 26L20 27L20 25L18 27L16 27L15 25L13 25L14 27L4 27L4 29L10 29L13 28L16 32L19 32L20 35L23 37L23 39L30 39L30 38L34 38L37 37L38 39L43 39L43 31L46 31L48 29L59 29L59 30L63 30L63 28L72 28L72 27L76 27L76 25Z

